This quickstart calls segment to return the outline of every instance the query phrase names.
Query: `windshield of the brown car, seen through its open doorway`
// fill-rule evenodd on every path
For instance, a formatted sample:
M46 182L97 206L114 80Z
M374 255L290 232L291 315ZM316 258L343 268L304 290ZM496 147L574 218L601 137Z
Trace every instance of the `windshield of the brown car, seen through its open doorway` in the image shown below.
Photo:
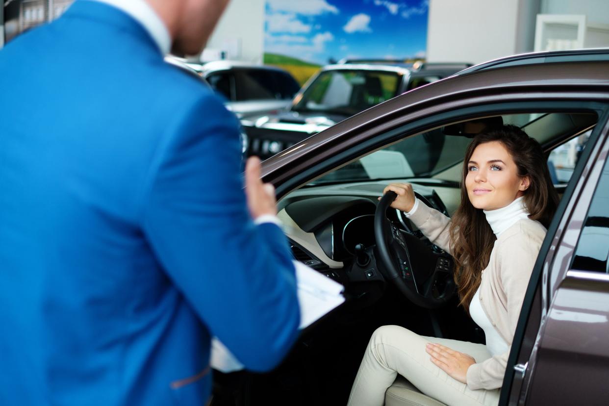
M543 114L508 114L504 124L524 127ZM431 177L463 160L471 138L447 135L446 128L420 133L388 145L314 181L337 181Z

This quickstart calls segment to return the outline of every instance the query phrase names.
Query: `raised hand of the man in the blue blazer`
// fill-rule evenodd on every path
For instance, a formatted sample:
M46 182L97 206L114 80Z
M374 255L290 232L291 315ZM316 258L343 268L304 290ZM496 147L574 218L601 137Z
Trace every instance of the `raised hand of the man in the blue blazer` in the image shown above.
M277 215L275 187L262 183L260 179L260 159L252 156L245 164L245 195L252 219L261 215Z

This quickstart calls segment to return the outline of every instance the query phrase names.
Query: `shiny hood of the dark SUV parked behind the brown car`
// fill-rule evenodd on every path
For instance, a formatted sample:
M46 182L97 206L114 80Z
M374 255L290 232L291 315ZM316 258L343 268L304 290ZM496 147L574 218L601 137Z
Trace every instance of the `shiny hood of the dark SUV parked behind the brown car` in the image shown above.
M347 119L339 114L324 114L322 111L300 113L285 110L276 114L256 114L242 117L241 124L246 127L266 128L269 130L301 131L309 134L319 133L334 124Z

